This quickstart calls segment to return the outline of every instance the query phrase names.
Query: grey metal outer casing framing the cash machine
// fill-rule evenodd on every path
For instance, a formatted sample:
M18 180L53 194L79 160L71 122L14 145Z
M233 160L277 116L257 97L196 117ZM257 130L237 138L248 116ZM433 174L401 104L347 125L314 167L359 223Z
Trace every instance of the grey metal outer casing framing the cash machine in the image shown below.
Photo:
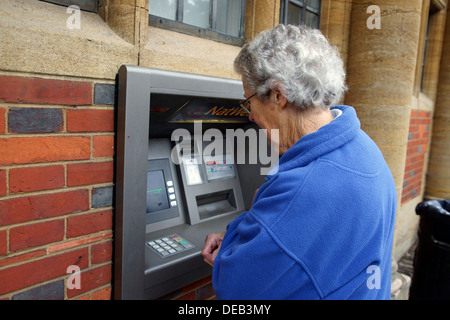
M115 193L115 299L158 298L177 289L177 286L187 285L211 272L211 268L199 256L201 247L197 248L195 254L183 257L184 270L180 271L179 261L174 260L168 260L169 262L161 267L149 269L148 251L146 251L149 250L146 242L150 240L145 215L146 173L150 158L148 146L151 143L149 141L150 97L154 93L214 97L236 101L244 99L242 82L237 80L127 65L119 69ZM159 142L156 141L156 143ZM251 170L246 168L243 175L247 174L252 175ZM249 179L248 176L242 179L256 183L255 187L259 186L257 179ZM179 205L181 205L181 199L179 199L181 190L180 187L176 188ZM239 197L241 196L237 195L237 198ZM249 197L251 199L251 195L247 192L245 200L247 207ZM236 201L242 202L242 199ZM235 213L244 209L242 205L238 207L239 210L236 210ZM233 215L212 220L206 219L205 222L194 225L181 221L181 224L175 226L175 229L172 228L171 232L180 232L184 235L187 232L189 235L187 239L195 238L199 247L202 245L200 241L204 241L205 230L208 230L207 233L225 231L226 225L232 219ZM199 228L202 228L202 232L199 232ZM153 232L152 236L164 235L166 232L163 230L158 234L158 230L150 231ZM173 280L176 284L173 281L162 281L161 278L164 277L176 278Z

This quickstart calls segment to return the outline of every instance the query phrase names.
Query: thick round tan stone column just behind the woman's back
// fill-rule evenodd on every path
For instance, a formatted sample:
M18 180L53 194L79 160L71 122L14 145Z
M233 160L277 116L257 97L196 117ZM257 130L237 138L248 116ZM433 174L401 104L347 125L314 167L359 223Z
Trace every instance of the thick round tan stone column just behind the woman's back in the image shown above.
M380 29L368 26L372 26L368 19L373 13L367 13L371 5L380 9ZM362 129L383 152L394 176L398 208L405 172L421 11L421 0L352 2L347 56L349 91L345 104L355 107ZM397 228L394 253L396 239ZM402 290L395 286L396 279L399 278L393 277L393 297ZM402 282L400 287L407 285Z

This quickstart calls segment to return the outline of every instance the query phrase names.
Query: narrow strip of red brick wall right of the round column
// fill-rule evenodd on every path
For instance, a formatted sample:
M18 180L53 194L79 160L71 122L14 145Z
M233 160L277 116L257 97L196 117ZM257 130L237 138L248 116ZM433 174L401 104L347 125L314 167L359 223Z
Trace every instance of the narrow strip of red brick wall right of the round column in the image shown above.
M403 179L402 204L419 196L425 174L425 156L431 124L431 112L412 110Z

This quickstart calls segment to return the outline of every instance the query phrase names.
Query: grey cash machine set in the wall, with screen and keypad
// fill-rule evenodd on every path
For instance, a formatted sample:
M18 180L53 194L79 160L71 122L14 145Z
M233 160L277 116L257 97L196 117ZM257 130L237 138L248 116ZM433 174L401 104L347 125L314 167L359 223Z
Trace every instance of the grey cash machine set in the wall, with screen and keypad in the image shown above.
M157 299L211 273L207 234L225 231L264 182L250 154L236 161L254 141L227 148L230 130L256 129L242 99L237 80L119 69L115 299Z

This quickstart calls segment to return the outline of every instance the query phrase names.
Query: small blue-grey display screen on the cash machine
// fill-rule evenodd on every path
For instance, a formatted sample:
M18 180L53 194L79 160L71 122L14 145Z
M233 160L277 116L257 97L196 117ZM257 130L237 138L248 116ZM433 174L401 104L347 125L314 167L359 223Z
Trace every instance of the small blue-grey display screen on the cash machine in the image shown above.
M164 172L147 172L147 213L169 209Z

